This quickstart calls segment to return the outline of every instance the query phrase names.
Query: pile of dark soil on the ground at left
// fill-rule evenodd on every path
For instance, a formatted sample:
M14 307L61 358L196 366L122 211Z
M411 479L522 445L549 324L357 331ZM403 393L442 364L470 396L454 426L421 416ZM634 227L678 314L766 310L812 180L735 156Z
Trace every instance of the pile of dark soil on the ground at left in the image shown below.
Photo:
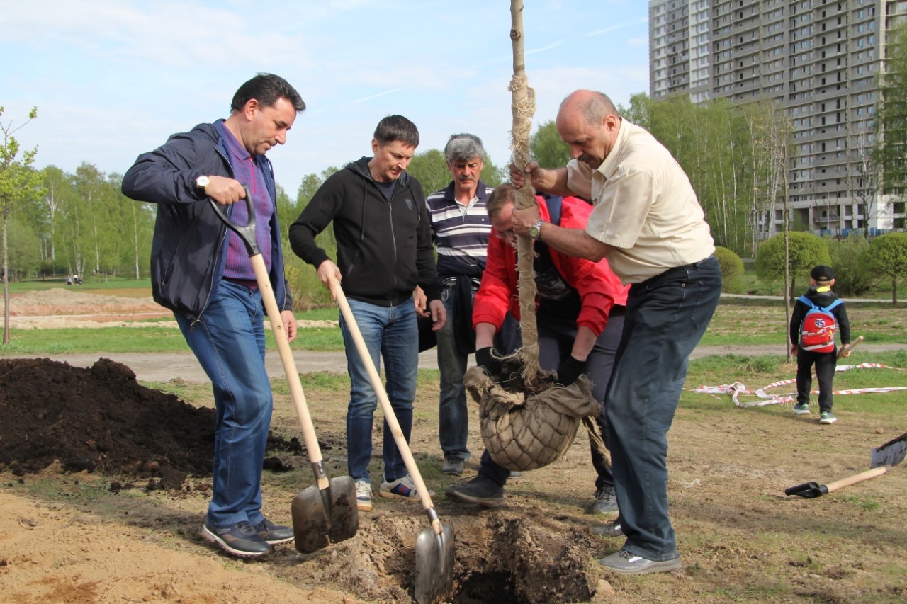
M17 475L58 461L178 489L188 474L210 476L214 414L139 385L109 359L0 359L0 467Z

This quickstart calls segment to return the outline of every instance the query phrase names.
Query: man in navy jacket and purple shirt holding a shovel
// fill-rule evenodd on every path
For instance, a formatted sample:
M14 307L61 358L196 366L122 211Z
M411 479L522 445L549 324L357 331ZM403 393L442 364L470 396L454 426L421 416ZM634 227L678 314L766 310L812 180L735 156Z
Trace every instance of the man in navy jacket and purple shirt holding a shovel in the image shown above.
M296 318L284 279L274 172L265 153L287 141L305 109L286 80L259 73L239 87L226 120L172 135L142 153L122 180L125 195L158 204L152 295L173 311L214 390L213 486L201 534L241 557L267 554L294 535L261 511L261 466L273 406L261 295L245 245L208 198L226 206L231 220L246 224L246 204L236 202L248 188L255 239L292 340Z

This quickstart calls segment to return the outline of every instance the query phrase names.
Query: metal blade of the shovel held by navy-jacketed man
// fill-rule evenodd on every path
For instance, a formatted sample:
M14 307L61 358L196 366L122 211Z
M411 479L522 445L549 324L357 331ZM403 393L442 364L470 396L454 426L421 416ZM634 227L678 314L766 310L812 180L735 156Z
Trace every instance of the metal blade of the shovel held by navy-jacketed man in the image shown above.
M332 478L330 488L310 486L293 498L290 506L296 549L302 553L346 541L359 530L356 482L349 476Z

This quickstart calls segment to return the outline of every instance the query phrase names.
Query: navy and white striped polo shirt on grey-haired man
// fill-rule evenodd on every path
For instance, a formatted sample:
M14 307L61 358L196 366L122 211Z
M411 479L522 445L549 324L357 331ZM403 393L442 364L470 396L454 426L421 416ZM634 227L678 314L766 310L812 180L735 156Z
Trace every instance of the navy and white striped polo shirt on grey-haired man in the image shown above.
M453 197L452 180L446 188L435 191L426 199L441 281L461 275L482 277L488 238L492 233L492 220L488 218L485 201L492 190L479 180L475 197L469 205L463 206Z

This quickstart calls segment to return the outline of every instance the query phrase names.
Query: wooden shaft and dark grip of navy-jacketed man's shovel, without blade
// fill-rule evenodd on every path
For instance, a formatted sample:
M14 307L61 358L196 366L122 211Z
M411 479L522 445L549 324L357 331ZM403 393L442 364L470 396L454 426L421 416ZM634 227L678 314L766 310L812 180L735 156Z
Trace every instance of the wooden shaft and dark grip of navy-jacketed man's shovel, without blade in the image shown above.
M312 416L308 413L306 404L306 394L302 390L302 383L299 381L299 372L296 368L296 361L293 360L293 351L289 347L289 338L287 329L280 318L280 309L278 308L277 297L274 295L274 289L271 287L271 281L268 278L268 267L265 266L265 259L261 257L258 251L258 245L255 242L255 208L252 205L252 196L249 194L249 188L246 190L246 207L249 209L249 222L245 225L239 225L220 211L218 203L208 198L214 211L217 212L218 218L227 225L227 228L239 235L246 244L246 250L249 252L249 262L252 270L255 271L255 280L258 283L258 291L261 293L261 302L268 313L268 320L271 323L271 331L274 333L274 342L278 347L280 362L284 367L284 373L287 374L290 395L293 397L293 404L296 406L296 413L299 418L299 424L302 425L303 441L306 443L308 460L312 463L315 471L315 478L318 484L318 490L324 491L330 488L330 479L324 472L322 466L321 447L318 446L318 437L315 434L315 424L312 423Z

